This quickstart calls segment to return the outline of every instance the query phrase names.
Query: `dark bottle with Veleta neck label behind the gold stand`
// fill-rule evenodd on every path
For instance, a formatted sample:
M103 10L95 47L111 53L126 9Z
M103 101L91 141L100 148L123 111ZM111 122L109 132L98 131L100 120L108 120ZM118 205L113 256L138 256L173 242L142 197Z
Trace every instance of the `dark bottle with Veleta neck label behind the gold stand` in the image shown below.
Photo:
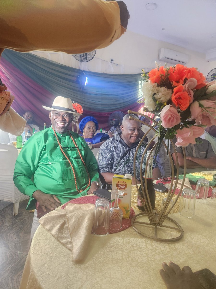
M150 151L147 151L147 153L146 153L146 159L147 159L149 153L150 153ZM146 179L145 179L145 175L143 176L143 179L142 179L143 188L144 188L144 192L145 192L145 193L146 193L145 181L146 181L146 184L147 184L147 189L148 189L148 193L149 193L149 199L150 199L150 203L151 203L151 206L152 206L152 210L154 210L154 208L155 208L155 189L154 189L154 184L153 184L153 179L152 179L152 163L153 163L153 157L154 157L154 153L151 154L151 156L150 156L150 158L149 158L149 161L148 161L148 164L146 164L146 168L147 168ZM145 205L148 200L145 200L145 199L144 199L141 185L140 185L140 187L139 187L139 192L140 192L140 194L141 194L141 196L142 196L143 203L144 203L144 205ZM144 211L143 204L142 204L142 201L141 201L139 195L137 195L137 207L138 207L139 210Z

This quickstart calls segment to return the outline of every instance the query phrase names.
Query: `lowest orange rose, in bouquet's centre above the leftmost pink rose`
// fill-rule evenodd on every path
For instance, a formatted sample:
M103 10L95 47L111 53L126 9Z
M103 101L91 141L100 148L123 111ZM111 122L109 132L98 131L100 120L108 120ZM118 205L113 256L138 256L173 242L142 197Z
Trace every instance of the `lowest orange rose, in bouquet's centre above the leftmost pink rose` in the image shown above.
M173 89L171 97L172 102L175 106L179 107L180 110L186 110L190 104L190 96L186 91L183 91L183 85L179 85Z

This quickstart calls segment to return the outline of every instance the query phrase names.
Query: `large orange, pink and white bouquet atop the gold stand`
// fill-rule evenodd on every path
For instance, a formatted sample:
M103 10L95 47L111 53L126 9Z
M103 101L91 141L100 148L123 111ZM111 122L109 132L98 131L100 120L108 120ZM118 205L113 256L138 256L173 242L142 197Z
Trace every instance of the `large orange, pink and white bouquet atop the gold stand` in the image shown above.
M156 63L157 65L157 63ZM145 110L160 116L156 136L176 136L176 146L198 142L204 128L216 125L216 81L207 83L197 68L158 66L145 74L142 87Z

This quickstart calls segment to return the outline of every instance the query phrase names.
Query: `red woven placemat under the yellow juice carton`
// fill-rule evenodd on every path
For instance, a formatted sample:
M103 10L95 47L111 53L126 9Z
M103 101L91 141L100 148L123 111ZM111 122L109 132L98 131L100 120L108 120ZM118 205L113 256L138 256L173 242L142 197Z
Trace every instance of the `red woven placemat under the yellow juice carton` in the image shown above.
M62 205L62 210L67 206L67 204L72 203L72 204L93 204L95 205L95 202L97 199L101 199L98 196L84 196L84 197L80 197L77 199L73 199L67 203L65 203L64 205ZM110 206L110 202L109 202L109 206ZM118 233L121 232L127 228L129 228L131 226L131 219L132 217L135 216L135 212L132 208L130 208L130 217L129 219L122 219L122 229L120 230L112 230L109 229L109 234L112 233Z

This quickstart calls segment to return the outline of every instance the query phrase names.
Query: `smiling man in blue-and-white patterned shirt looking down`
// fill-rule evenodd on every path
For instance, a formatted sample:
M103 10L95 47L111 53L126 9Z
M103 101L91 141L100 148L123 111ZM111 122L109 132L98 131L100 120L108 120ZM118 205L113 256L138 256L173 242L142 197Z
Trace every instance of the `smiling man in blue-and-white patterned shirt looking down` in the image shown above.
M139 144L138 138L141 131L141 123L135 120L130 120L129 116L137 118L134 114L126 114L123 117L121 128L121 134L116 134L113 138L106 140L100 147L98 155L98 171L101 177L102 188L110 189L114 174L132 175L132 184L135 184L134 177L140 183L140 163L143 152L147 146L146 142L143 142L139 147L137 153L136 162L136 175L134 176L134 154ZM143 161L142 172L145 173L145 162ZM161 177L158 165L153 162L153 180Z

